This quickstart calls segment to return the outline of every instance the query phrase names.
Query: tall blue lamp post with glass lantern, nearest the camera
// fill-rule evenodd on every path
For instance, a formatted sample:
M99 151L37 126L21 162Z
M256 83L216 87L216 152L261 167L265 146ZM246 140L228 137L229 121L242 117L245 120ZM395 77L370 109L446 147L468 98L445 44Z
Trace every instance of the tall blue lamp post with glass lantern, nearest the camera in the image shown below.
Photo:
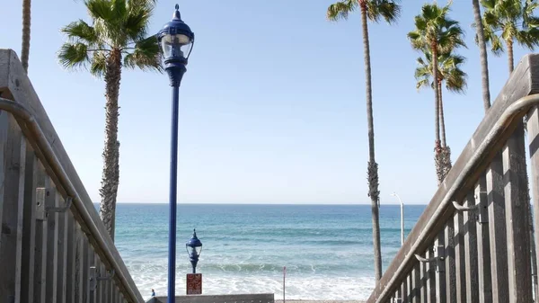
M179 6L172 21L164 24L157 33L157 40L163 51L163 63L170 85L172 86L172 126L171 126L171 179L170 179L170 214L169 214L169 262L168 262L168 303L175 302L176 285L176 192L178 174L178 94L181 78L187 70L187 59L190 56L195 34L190 27L181 21Z

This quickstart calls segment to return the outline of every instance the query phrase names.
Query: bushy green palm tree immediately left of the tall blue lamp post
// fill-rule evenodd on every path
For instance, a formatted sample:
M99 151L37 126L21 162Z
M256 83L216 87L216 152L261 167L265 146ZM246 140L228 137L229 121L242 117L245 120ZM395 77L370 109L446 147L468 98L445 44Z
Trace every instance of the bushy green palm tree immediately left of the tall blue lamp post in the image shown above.
M162 71L155 36L146 38L154 9L150 0L85 0L92 25L78 20L62 29L67 42L58 52L66 68L89 67L105 80L105 145L100 216L114 239L119 185L119 81L122 67Z

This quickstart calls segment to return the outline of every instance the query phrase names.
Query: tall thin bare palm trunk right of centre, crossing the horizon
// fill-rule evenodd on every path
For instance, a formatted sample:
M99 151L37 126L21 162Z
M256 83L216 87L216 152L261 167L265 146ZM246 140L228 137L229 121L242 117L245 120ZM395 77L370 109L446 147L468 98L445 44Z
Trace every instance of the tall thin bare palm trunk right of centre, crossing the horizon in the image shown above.
M373 215L373 246L375 248L375 275L376 283L382 278L382 254L380 251L380 222L378 218L378 165L375 161L375 126L373 122L373 96L371 87L371 66L370 49L368 42L367 27L367 4L364 0L359 0L361 7L361 25L363 28L363 51L365 58L365 86L367 90L367 128L368 128L368 164L367 180L368 195L371 199L371 209Z

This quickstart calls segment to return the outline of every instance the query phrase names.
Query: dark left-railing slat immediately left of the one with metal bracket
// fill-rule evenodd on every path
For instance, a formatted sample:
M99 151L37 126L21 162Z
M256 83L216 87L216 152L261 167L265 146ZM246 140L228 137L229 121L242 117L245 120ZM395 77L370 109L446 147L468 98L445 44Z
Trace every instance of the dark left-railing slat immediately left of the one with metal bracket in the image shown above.
M21 302L34 301L34 263L36 247L36 187L39 182L37 158L26 144L26 168L24 170L24 213L22 227L22 280Z

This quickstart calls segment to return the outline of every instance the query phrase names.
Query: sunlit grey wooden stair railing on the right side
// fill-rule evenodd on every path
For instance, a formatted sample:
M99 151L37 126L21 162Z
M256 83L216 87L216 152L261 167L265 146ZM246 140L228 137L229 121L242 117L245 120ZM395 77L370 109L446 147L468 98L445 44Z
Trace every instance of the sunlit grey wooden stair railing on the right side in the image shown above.
M539 55L528 55L367 302L534 301L537 268L531 253L525 127L537 227L538 93ZM538 233L534 236L539 244Z

